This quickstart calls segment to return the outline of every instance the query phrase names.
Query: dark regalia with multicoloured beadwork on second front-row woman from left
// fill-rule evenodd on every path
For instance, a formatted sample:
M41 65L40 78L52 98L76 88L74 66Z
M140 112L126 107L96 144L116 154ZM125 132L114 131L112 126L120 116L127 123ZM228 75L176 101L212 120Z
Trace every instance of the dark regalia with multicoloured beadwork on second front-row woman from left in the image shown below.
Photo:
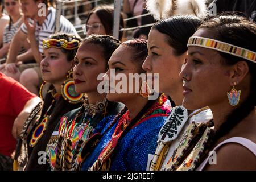
M57 171L76 170L81 163L81 150L86 140L104 127L104 123L100 121L102 119L112 120L123 107L124 105L121 103L106 100L106 104L102 106L104 110L98 111L94 117L92 117L92 113L85 115L90 109L85 109L81 113L82 107L64 114L57 124L46 148L48 169ZM77 121L76 117L79 113L81 117ZM63 135L63 133L66 134Z

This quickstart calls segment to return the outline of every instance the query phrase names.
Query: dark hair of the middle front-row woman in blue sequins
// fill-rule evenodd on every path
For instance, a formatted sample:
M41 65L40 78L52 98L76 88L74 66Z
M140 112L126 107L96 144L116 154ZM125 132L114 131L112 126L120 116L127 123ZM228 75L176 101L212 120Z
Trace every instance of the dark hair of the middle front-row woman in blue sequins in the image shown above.
M126 46L133 50L133 57L131 57L131 61L136 63L138 67L141 68L141 72L145 72L142 69L142 64L148 54L147 40L144 40L144 39L127 40L126 42L123 42L121 46Z

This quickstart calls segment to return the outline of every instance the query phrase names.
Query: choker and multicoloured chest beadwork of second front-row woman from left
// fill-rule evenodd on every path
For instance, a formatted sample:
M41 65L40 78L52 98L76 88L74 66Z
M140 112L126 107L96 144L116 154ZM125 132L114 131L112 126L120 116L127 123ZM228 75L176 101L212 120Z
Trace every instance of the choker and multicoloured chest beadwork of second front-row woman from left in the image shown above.
M79 121L81 110L72 121L67 121L67 118L62 118L59 127L59 139L57 140L57 155L55 170L74 170L81 163L81 150L87 140L92 134L93 127L90 126L92 120L97 113L104 111L106 114L106 107L108 102L106 98L98 101L96 105L85 103L85 111L82 117L81 125ZM62 146L62 147L61 147ZM59 150L62 148L62 150ZM68 156L67 156L68 155ZM62 159L61 159L62 158Z

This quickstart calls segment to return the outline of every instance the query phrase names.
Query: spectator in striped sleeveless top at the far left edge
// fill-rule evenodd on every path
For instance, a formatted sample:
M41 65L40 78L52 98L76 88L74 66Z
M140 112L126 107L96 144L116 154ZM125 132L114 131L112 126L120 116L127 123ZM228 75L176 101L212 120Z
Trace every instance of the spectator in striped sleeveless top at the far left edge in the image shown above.
M22 10L20 9L20 2L18 0L3 0L5 3L5 9L10 17L9 25L5 26L3 31L3 47L0 49L0 58L6 57L8 49L11 44L11 39L13 39L14 34L18 31L20 25L22 24ZM28 42L26 41L27 48L29 47ZM19 53L23 53L24 48L20 50Z

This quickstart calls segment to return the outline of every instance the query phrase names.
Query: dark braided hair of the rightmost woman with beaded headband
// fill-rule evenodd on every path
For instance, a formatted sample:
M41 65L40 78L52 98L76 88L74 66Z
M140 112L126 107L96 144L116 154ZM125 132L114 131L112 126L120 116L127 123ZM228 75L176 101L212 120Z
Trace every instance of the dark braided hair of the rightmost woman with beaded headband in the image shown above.
M256 24L246 20L246 18L234 15L220 15L216 18L206 20L206 22L199 27L199 29L201 28L214 31L215 35L213 39L256 52ZM223 57L221 63L224 65L234 65L238 61L246 61L251 76L251 84L249 96L245 101L241 101L241 105L226 117L226 121L222 123L220 128L216 131L214 141L227 134L237 123L247 117L247 115L254 110L256 104L256 63L227 53L219 53Z

